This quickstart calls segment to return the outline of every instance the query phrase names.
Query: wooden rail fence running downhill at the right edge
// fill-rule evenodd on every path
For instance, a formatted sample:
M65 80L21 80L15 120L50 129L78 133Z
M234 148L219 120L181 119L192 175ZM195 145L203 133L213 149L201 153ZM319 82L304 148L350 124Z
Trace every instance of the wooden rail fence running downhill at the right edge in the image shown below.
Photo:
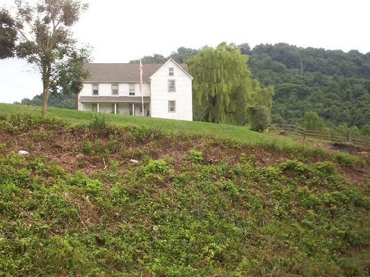
M287 133L291 133L293 135L297 135L298 137L302 137L303 140L306 137L313 137L319 140L329 140L331 142L341 142L341 143L351 143L355 145L361 145L369 148L369 138L368 137L353 137L351 131L348 135L343 135L337 133L335 131L314 131L308 130L306 128L296 126L293 124L269 124L268 128L270 129L277 129L277 130L284 130Z

